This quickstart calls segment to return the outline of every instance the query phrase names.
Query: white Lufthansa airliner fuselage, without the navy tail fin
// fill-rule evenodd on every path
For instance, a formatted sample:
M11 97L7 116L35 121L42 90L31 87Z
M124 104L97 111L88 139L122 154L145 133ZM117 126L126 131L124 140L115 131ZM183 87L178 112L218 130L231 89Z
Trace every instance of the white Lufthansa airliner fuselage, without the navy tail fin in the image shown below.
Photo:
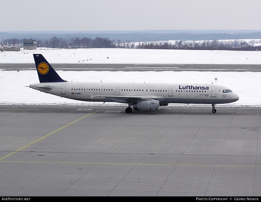
M30 87L45 93L88 102L129 103L123 98L143 97L158 100L161 104L223 104L239 99L236 93L226 92L229 88L216 84L59 82L36 83Z

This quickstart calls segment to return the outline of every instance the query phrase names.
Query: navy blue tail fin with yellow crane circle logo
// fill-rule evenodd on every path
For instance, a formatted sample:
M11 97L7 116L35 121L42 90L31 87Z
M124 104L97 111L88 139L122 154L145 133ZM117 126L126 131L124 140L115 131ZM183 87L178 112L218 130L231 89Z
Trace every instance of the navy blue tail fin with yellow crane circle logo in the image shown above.
M40 83L64 81L41 54L33 54Z

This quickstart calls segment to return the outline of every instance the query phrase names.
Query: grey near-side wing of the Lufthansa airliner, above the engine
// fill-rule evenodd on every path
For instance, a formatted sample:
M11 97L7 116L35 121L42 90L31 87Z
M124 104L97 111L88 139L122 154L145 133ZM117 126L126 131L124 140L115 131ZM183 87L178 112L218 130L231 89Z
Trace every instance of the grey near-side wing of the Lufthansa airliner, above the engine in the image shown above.
M115 102L118 101L127 101L127 102L140 102L140 101L145 101L145 100L154 100L153 97L151 96L143 96L143 97L134 97L134 96L102 96L102 95L92 95L91 99L111 99L114 100Z

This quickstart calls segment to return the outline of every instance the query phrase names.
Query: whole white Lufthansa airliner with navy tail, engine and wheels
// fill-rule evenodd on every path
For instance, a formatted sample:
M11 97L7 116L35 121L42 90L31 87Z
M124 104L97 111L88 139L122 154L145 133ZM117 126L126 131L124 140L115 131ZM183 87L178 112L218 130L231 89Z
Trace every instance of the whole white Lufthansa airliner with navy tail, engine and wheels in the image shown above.
M191 83L105 83L64 81L41 54L33 54L40 83L29 87L60 97L87 102L126 103L126 113L153 111L169 103L216 104L239 99L229 88L216 84Z

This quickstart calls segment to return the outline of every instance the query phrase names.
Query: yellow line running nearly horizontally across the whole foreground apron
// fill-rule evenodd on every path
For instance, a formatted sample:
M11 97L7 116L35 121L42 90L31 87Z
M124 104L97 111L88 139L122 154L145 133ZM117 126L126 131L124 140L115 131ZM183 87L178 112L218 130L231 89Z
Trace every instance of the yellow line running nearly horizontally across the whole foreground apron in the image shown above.
M198 164L157 164L157 163L88 163L88 162L48 162L48 161L0 161L13 163L72 163L72 164L109 164L109 165L147 165L147 166L222 166L222 167L261 167L242 165L198 165Z

